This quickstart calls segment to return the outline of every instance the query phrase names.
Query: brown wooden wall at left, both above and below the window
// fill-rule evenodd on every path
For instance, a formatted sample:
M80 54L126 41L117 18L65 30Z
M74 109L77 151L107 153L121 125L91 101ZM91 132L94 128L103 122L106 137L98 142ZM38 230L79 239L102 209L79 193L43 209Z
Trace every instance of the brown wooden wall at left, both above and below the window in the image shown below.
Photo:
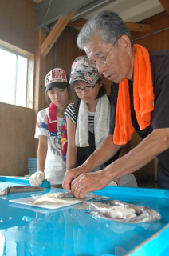
M1 1L0 40L35 54L34 6L30 0ZM0 120L0 175L28 174L28 158L33 157L33 110L0 102Z

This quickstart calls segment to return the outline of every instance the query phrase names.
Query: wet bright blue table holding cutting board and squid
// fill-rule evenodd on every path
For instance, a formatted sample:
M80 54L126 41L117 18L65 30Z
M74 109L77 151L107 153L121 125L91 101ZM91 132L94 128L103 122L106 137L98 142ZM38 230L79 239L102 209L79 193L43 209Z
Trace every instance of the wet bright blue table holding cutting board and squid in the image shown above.
M22 184L4 181L0 189ZM96 218L71 207L48 210L9 202L31 195L63 192L45 191L8 194L0 197L0 256L162 256L169 254L169 190L106 187L96 191L120 201L149 206L162 219L127 224ZM153 249L153 250L152 250Z

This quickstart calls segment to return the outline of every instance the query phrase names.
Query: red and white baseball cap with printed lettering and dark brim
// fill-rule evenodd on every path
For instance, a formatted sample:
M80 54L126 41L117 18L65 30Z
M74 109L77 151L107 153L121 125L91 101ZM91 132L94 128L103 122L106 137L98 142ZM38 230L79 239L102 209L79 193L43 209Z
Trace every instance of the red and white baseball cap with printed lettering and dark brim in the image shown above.
M58 87L65 89L69 86L69 76L65 73L64 70L56 68L50 70L45 76L45 92L47 92L52 87Z

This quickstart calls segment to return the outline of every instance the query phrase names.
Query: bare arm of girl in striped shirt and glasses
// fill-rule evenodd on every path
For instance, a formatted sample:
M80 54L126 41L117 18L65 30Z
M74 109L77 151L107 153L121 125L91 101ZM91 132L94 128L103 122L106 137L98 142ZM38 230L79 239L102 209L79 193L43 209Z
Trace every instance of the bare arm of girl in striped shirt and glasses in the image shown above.
M77 162L77 146L75 146L76 124L66 117L68 149L66 155L66 170L75 168Z

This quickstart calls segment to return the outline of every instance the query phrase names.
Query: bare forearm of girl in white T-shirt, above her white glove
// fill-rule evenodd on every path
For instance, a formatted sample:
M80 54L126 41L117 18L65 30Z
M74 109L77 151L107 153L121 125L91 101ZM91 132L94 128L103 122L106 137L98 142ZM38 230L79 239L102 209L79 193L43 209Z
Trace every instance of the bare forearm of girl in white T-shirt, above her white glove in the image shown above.
M48 138L45 135L39 135L37 148L37 171L45 169L45 158L48 150Z

